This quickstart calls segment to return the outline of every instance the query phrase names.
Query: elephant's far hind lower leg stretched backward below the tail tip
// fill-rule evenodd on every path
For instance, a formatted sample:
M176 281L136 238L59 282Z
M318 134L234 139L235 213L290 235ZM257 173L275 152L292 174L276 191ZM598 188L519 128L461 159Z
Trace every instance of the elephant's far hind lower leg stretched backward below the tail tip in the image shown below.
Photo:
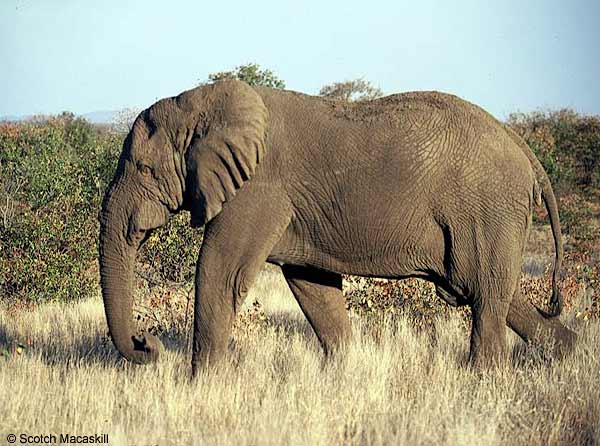
M507 323L525 342L543 347L545 352L556 358L570 353L577 341L575 332L565 327L557 317L544 317L520 291L515 293Z

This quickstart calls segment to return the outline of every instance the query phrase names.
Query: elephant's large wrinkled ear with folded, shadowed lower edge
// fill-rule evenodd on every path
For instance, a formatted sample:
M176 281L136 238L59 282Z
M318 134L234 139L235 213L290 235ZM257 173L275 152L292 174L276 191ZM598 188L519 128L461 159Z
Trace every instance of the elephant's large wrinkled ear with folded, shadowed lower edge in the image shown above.
M267 109L247 84L229 80L198 90L188 98L202 109L186 154L193 227L215 217L252 178L265 155L267 130Z

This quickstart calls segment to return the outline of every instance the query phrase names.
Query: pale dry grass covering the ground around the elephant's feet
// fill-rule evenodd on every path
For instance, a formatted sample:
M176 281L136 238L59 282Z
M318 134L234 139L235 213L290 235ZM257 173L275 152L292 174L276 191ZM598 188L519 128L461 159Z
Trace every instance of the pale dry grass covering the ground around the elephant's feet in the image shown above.
M435 336L406 320L353 320L344 359L323 362L278 276L254 290L266 321L241 324L230 358L189 382L187 339L158 365L125 363L99 300L0 311L0 438L108 433L119 444L600 443L600 323L578 327L565 360L512 340L506 367L466 367L458 318ZM23 348L16 347L18 343ZM19 353L17 350L21 350Z

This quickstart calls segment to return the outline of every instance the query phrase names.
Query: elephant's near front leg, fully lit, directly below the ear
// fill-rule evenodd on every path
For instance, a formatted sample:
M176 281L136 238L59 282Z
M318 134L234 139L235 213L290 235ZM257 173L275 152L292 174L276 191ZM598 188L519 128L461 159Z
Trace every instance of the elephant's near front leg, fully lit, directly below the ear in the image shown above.
M283 212L270 209L267 218L253 209L223 211L206 227L196 266L193 376L223 357L237 309L289 222Z

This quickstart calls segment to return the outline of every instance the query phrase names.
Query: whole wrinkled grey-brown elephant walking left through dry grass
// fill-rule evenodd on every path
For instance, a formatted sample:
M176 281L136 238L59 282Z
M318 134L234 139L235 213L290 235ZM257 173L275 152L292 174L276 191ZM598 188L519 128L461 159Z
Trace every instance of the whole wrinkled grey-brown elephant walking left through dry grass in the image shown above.
M531 212L555 237L554 314L519 290ZM480 108L435 93L348 104L223 81L136 119L101 212L102 294L112 339L136 363L162 345L132 324L136 252L187 209L206 224L196 269L194 373L226 351L236 309L265 261L283 274L325 352L350 338L341 274L432 281L470 305L470 361L504 360L508 324L570 349L556 316L560 224L523 141Z

